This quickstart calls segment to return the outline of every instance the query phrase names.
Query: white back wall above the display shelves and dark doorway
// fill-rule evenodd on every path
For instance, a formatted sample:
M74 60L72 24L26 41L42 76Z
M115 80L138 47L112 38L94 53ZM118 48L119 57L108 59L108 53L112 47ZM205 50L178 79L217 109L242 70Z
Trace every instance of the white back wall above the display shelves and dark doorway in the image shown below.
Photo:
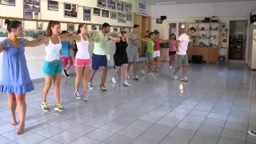
M250 10L255 9L256 1L249 2L216 2L216 3L198 3L198 4L180 4L180 5L162 5L151 6L152 30L159 30L162 38L169 38L169 24L178 22L195 22L198 19L217 16L220 22L229 23L232 20L246 20L247 34L249 34ZM255 13L256 14L256 11ZM160 16L166 16L162 24L156 24L155 19ZM246 60L248 53L248 38L246 39ZM220 50L221 54L227 54L228 49Z

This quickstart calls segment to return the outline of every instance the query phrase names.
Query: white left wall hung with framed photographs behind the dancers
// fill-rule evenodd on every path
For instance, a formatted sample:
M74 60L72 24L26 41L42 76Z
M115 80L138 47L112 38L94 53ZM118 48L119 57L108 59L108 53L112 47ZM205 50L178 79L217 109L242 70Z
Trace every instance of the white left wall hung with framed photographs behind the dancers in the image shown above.
M123 0L124 2L130 2L133 4L133 12L135 10L135 0ZM82 18L82 6L89 6L89 7L97 7L97 0L58 0L59 6L58 11L49 11L47 8L47 0L41 0L41 19L53 19L58 21L67 21L67 22L86 22L86 23L96 23L102 25L104 22L110 23L112 26L133 26L133 22L126 22L126 23L119 23L118 20L112 20L110 18L102 18L91 15L91 21L83 21ZM64 17L64 3L63 2L70 2L74 4L78 4L78 18L65 18ZM0 16L3 17L14 17L14 18L23 18L23 0L16 1L16 6L4 6L0 5ZM39 14L40 17L40 14ZM6 26L3 25L4 20L0 20L2 22L3 28L0 30L6 30ZM67 29L67 25L62 23L62 30ZM47 23L43 23L43 30L46 30ZM78 25L75 26L75 30L77 30ZM35 30L36 29L36 22L24 22L24 29L25 30ZM91 30L91 27L88 26L88 30ZM111 27L110 31L113 32L113 27ZM5 38L0 38L0 40ZM114 42L108 42L107 45L107 56L109 58L108 65L113 66L113 54L115 50ZM94 49L94 42L90 42L90 54ZM27 65L30 71L30 77L32 79L36 78L43 78L42 74L42 63L44 61L46 52L44 46L37 46L37 47L26 47L26 60ZM73 56L73 53L71 54ZM2 54L0 54L0 75L2 71ZM71 67L70 72L74 72L74 67ZM0 82L2 78L0 76Z

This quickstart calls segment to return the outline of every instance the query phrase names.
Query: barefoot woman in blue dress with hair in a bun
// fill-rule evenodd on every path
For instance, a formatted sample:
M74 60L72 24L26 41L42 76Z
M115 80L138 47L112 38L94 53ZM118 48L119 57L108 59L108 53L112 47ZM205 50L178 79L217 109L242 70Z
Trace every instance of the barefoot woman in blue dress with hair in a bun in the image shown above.
M2 58L2 84L1 93L8 96L8 106L11 113L11 124L17 125L15 118L16 106L20 126L18 134L24 134L26 118L26 93L34 90L30 79L29 70L26 66L25 46L39 46L46 42L46 38L38 38L27 41L22 36L22 22L6 20L8 37L0 42Z

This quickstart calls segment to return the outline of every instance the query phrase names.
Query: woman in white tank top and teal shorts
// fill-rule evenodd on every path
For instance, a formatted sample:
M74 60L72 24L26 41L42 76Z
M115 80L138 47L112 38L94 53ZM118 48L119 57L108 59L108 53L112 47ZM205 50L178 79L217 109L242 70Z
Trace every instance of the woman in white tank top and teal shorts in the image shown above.
M46 58L43 63L42 72L45 74L45 86L42 89L42 102L40 106L43 111L50 111L48 104L46 103L46 97L50 90L51 84L54 80L54 97L56 111L63 111L62 104L60 103L60 82L62 77L62 63L60 62L60 53L62 48L61 42L74 41L74 36L62 37L58 36L61 31L61 25L58 21L50 21L47 30L46 37L48 41L46 45Z

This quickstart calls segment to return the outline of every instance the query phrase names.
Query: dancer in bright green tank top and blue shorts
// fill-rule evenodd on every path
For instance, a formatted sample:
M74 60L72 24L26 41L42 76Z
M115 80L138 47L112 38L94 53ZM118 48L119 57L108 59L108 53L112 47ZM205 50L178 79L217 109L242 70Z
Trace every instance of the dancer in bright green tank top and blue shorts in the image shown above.
M154 58L153 58L153 52L154 52L154 38L155 33L150 32L149 38L138 38L142 42L146 42L146 57L148 58L148 64L146 64L144 70L142 70L142 75L154 75L152 73L153 67L154 67Z

